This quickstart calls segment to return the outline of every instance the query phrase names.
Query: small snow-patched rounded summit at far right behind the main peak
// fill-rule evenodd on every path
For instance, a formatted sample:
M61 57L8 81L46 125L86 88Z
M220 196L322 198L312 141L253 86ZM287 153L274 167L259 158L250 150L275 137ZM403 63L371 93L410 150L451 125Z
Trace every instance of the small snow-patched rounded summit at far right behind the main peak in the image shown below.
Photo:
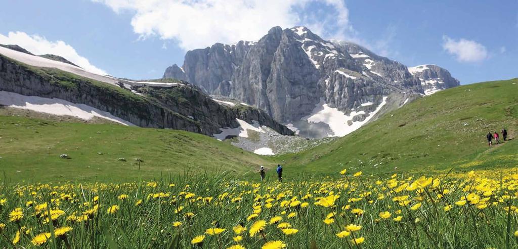
M408 71L410 74L421 80L421 84L426 95L455 87L460 84L457 79L451 76L448 70L436 65L409 67Z

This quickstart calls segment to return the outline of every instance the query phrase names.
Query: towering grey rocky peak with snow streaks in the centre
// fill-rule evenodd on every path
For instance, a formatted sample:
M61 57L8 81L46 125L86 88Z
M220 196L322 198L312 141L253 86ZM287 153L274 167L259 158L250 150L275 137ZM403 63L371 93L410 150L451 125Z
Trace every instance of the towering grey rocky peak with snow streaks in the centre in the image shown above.
M401 63L301 26L188 51L182 67L168 67L164 78L236 98L313 138L347 135L424 95L426 83Z

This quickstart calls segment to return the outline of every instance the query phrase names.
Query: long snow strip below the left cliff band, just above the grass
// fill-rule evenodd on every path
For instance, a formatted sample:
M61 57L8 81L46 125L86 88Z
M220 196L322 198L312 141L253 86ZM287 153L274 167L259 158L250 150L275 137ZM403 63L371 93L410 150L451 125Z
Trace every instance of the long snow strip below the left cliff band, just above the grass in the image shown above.
M96 116L98 118L110 120L123 125L134 126L134 124L117 118L109 112L84 104L74 104L59 98L25 96L17 93L0 91L0 105L52 115L75 116L82 120L91 120Z

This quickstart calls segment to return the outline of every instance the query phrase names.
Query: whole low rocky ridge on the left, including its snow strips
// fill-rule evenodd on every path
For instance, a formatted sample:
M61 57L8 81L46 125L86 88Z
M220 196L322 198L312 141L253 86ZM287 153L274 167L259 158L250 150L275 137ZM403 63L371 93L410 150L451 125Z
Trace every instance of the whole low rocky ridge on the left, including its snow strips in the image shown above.
M182 129L219 138L226 137L221 134L246 136L244 126L267 126L279 134L293 135L266 112L244 105L221 105L188 82L97 75L5 47L0 47L0 105L82 119L96 116L125 125Z

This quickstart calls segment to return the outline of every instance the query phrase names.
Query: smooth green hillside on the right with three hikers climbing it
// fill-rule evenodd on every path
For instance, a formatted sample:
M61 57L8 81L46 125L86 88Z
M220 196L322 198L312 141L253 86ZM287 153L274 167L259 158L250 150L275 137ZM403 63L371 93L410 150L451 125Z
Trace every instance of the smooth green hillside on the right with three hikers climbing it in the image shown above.
M411 102L332 143L277 159L317 173L515 167L517 119L518 79L470 84ZM488 150L486 134L500 134L502 127L512 140Z

